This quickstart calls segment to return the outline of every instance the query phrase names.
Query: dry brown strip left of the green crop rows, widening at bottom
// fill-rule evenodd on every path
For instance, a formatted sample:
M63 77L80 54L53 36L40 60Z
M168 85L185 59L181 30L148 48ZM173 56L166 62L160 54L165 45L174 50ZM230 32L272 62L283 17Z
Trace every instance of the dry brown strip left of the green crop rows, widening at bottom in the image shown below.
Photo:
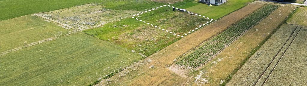
M261 3L251 3L182 38L146 59L135 63L97 85L187 85L192 80L191 76L178 76L169 70L173 60L221 33L262 6L263 4ZM149 68L151 65L154 68Z

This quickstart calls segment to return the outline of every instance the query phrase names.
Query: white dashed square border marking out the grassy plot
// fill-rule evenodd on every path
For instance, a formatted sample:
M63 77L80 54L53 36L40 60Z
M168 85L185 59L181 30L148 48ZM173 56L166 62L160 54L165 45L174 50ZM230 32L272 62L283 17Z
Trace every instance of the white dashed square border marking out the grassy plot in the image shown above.
M163 6L166 6L166 5L163 5ZM163 6L160 6L160 8L163 7ZM167 5L167 6L171 7L170 5ZM175 8L175 7L172 6L172 8ZM147 13L147 12L149 12L149 11L156 10L156 9L159 9L159 7L150 9L150 10L148 10L148 11L146 10L146 11L144 11L144 12L141 12L141 13L138 13L138 14L136 14L136 15L133 15L132 18L134 18L134 17L137 16L137 15L144 14L144 13ZM178 9L178 8L176 7L175 9ZM196 14L196 13L193 13L193 12L190 12L190 11L187 11L187 12L190 13L190 14L195 14L195 15L198 15L198 16L200 16L200 17L206 18L205 16L202 16L202 15L199 15L199 14ZM136 19L136 20L139 20L139 21L141 21L141 22L146 23L145 21L142 21L142 20L140 20L140 19L138 19L138 18L135 18L135 19ZM210 19L210 18L207 17L207 19ZM213 19L211 18L211 20L210 20L209 22L212 22L212 21L213 21ZM207 22L206 24L208 24L209 22ZM150 23L148 23L148 22L147 22L147 24L148 24L148 25L151 25L151 26L154 26L154 27L156 27L156 28L158 28L158 29L161 29L160 27L158 27L158 26L156 26L156 25L153 25L153 24L150 24ZM197 30L198 28L201 28L202 26L204 26L204 25L206 25L206 24L199 25L199 27L193 29L192 31L190 31L190 32L188 32L188 33L185 33L185 34L182 35L182 36L177 35L176 33L173 33L173 32L169 32L168 30L165 30L165 29L162 29L162 30L163 30L163 31L166 31L166 32L169 32L169 33L171 33L171 34L173 34L173 35L177 35L178 37L184 37L184 36L186 36L186 35L192 33L193 31Z

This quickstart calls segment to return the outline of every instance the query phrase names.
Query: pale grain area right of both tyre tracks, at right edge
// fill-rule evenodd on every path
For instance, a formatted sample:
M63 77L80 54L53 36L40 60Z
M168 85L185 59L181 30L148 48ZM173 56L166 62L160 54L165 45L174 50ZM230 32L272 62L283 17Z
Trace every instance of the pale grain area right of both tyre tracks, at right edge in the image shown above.
M263 86L307 85L307 27L302 27Z

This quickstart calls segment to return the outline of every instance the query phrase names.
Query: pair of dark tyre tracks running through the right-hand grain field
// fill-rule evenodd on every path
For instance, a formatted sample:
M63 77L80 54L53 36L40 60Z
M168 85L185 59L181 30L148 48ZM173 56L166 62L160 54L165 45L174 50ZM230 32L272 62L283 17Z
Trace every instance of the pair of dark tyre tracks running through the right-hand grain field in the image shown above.
M270 62L270 64L266 67L266 69L265 69L265 71L263 71L262 72L262 74L261 74L261 76L258 78L258 80L257 80L257 82L254 84L254 86L255 85L257 85L258 83L259 83L259 81L261 81L261 78L265 75L265 73L266 73L266 71L268 71L269 70L269 67L270 67L270 65L272 65L272 64L274 64L273 62L274 62L274 60L275 59L278 59L278 58L276 58L276 57L278 57L279 56L279 54L281 54L282 53L282 56L284 55L284 53L286 52L286 50L289 48L289 46L292 44L292 42L293 42L293 40L295 39L295 37L297 36L297 33L299 32L299 31L297 31L297 33L296 33L296 30L297 30L297 28L299 28L298 26L293 30L293 32L291 33L291 36L287 39L287 41L284 43L284 45L279 49L279 51L278 51L278 53L274 56L274 58L272 59L272 61ZM300 30L300 29L299 29ZM296 34L295 34L296 33ZM294 38L293 39L291 39L292 37L293 37L293 35L295 35L294 36ZM290 41L289 41L290 40ZM291 41L292 40L292 41ZM286 44L288 43L288 42L290 42L290 44L287 46ZM286 48L286 50L285 51L282 51L282 49L284 49L284 48ZM280 58L281 59L281 58ZM279 60L280 60L279 59ZM277 65L277 64L276 64ZM276 66L275 65L275 66ZM275 68L275 66L274 66L274 68ZM271 72L272 72L273 70L271 70ZM266 77L266 79L267 79L268 77ZM264 83L262 83L262 85L263 85ZM258 86L258 85L257 85Z

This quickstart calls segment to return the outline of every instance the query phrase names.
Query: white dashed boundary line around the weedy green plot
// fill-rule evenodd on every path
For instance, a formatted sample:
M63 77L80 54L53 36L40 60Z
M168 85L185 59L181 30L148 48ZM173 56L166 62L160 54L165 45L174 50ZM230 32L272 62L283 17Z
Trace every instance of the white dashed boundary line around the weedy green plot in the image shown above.
M138 17L139 15L144 14L144 13L147 13L147 12L150 12L150 11L152 11L152 10L156 10L156 9L161 8L161 7L167 7L167 6L168 6L168 7L175 8L176 10L179 9L179 8L177 8L177 7L174 7L174 6L163 5L163 6L160 6L160 7L156 7L156 8L150 9L150 10L148 10L148 11L146 10L146 11L144 11L144 12L139 12L138 14L133 15L132 18ZM194 14L194 15L196 15L196 16L206 18L205 16L202 16L202 15L199 15L199 14L196 14L196 13L193 13L193 12L190 12L190 11L187 11L187 13L188 13L188 14ZM135 18L135 19L138 20L138 21L140 21L140 22L143 22L143 23L145 23L145 24L154 26L155 28L161 29L159 26L150 24L149 22L146 22L146 21L144 21L144 20L141 20L141 19L138 19L138 18ZM207 17L207 19L210 19L210 18ZM166 32L168 32L168 33L170 33L170 34L173 34L173 35L175 35L175 36L177 35L178 37L184 37L184 36L186 36L186 35L192 33L193 31L196 31L197 29L201 28L202 26L204 26L204 25L206 25L206 24L209 24L209 23L212 22L212 21L213 21L213 19L211 18L209 22L206 22L205 24L201 24L201 25L199 25L198 27L196 27L195 29L192 29L190 32L185 33L185 34L183 34L183 35L176 34L175 32L170 32L170 31L167 30L167 29L161 29L161 30L166 31Z

